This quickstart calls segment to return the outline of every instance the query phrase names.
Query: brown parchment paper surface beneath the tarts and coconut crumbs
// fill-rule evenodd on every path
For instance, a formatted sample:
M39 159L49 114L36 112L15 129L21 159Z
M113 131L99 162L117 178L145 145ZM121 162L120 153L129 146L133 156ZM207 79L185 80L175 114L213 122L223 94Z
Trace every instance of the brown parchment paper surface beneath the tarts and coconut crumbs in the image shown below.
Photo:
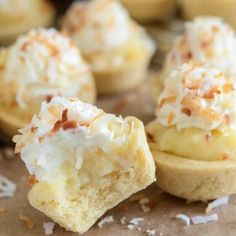
M147 85L130 93L120 96L102 97L98 101L98 106L103 107L107 112L117 114L136 115L145 122L153 118L153 102L150 99ZM17 184L17 191L12 198L0 199L0 207L6 208L6 213L0 213L0 235L1 236L39 236L44 235L43 222L48 222L46 216L33 209L27 201L27 173L23 163L17 159L3 158L0 161L0 174L6 176ZM212 211L217 213L219 221L205 225L185 224L175 218L176 214L184 213L188 216L204 214L206 203L187 204L186 201L172 197L160 191L156 184L153 184L143 193L147 196L154 208L151 212L143 213L138 202L126 200L114 209L108 211L106 215L114 217L114 223L105 224L102 229L94 225L86 236L126 236L126 235L147 235L147 229L157 229L156 235L191 235L191 236L234 236L236 235L236 198L231 197L230 203ZM19 214L26 215L35 223L33 229L28 229L19 220ZM127 224L122 225L120 219L125 216L127 221L134 217L143 217L134 230L128 230ZM138 231L141 227L141 231ZM74 236L76 233L66 232L60 226L54 228L55 236Z

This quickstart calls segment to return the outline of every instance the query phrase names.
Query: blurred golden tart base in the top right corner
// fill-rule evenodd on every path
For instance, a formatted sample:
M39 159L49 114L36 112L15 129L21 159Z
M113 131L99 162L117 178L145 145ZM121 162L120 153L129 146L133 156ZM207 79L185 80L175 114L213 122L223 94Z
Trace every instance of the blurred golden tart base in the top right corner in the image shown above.
M235 0L178 0L186 19L199 15L219 16L236 27Z

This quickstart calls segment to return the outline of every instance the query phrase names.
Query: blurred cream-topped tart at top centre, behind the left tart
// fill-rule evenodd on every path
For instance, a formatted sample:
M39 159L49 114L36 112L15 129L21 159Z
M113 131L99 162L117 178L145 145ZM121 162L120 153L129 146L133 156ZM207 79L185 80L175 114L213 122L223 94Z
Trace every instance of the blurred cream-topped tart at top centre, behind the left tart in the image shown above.
M117 93L146 78L155 44L117 0L74 3L62 30L91 65L98 93Z

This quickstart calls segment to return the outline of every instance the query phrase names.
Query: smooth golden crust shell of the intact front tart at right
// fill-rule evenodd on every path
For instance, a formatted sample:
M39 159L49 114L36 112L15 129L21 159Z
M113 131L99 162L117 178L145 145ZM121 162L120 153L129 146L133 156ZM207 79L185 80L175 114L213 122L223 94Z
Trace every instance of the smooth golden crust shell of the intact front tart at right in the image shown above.
M236 193L236 161L197 161L158 152L151 144L157 183L171 195L206 201Z

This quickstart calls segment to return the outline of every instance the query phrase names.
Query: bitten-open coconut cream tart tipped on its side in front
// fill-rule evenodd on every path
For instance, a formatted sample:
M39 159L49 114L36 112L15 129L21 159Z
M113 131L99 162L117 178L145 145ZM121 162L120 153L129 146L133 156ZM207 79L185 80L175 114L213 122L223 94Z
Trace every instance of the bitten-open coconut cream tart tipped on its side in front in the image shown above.
M108 209L155 180L144 127L77 99L43 102L15 151L31 175L28 199L67 230L86 232Z

